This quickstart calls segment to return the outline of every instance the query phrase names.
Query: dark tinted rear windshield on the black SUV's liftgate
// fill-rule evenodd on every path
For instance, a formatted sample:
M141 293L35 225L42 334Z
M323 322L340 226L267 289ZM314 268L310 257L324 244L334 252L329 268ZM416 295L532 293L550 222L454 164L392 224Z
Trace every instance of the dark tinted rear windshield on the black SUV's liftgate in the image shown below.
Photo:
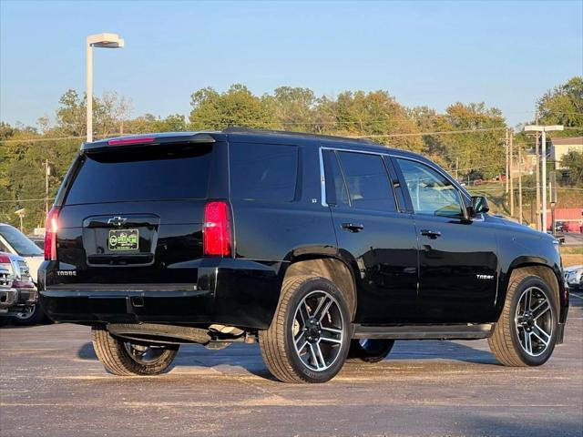
M211 144L88 153L66 205L206 198Z

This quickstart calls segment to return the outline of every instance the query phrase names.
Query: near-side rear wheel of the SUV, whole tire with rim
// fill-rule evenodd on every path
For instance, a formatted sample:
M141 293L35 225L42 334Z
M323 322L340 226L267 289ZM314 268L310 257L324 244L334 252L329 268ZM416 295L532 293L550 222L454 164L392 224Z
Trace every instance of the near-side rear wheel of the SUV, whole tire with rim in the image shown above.
M321 307L328 313L322 313ZM301 320L305 320L303 328ZM263 361L283 382L330 381L346 360L350 323L346 299L330 280L311 276L286 279L270 328L259 332ZM298 350L295 341L303 347Z

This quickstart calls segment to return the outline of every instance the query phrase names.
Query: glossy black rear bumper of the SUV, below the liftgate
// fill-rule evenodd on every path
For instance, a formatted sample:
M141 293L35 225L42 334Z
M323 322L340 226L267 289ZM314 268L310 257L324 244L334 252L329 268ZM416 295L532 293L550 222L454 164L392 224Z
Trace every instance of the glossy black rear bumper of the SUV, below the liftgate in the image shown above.
M54 266L52 266L54 269ZM201 259L192 284L50 284L39 269L40 304L55 321L188 323L266 329L279 300L280 265Z

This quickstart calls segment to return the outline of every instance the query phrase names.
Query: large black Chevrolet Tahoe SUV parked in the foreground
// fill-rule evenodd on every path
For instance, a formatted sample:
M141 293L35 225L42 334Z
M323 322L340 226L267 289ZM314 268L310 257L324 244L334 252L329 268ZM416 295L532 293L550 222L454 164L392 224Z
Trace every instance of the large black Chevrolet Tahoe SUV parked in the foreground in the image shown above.
M487 213L414 153L230 128L85 144L47 218L51 319L118 375L180 343L259 340L281 381L330 380L394 340L485 339L537 366L568 312L557 240Z

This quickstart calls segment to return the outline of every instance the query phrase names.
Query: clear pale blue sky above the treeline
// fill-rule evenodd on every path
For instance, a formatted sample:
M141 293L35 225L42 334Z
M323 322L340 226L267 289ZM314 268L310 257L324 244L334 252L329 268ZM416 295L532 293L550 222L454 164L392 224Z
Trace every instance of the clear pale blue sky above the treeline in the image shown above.
M128 97L132 117L189 114L190 95L242 83L333 97L384 89L408 107L498 107L511 125L583 75L583 0L547 2L26 2L0 0L0 120L54 120L68 88Z

